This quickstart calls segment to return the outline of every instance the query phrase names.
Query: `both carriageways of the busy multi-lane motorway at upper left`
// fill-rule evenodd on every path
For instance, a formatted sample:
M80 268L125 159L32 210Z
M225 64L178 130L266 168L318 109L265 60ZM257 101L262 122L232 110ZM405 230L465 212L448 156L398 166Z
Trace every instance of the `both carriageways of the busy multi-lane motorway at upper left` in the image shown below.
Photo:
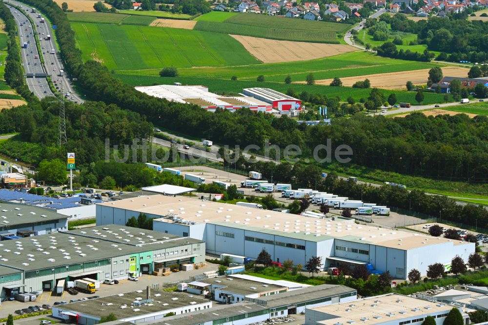
M36 39L34 38L34 31L31 25L31 22L27 20L27 18L19 12L16 8L10 7L12 14L14 15L16 21L18 22L19 27L19 37L20 37L20 45L24 42L30 41L27 45L27 49L21 49L22 53L22 61L24 64L24 70L28 73L47 73L51 75L51 79L57 89L62 92L63 96L69 101L82 103L83 100L81 96L78 95L76 92L73 91L73 86L64 71L64 67L61 62L61 56L59 50L56 46L56 42L54 41L54 30L52 26L49 24L49 21L46 20L39 12L32 12L32 8L26 6L25 4L9 0L9 3L12 3L16 6L21 7L21 9L34 21L37 28L37 33L39 36L39 42L41 45L41 53L37 53L36 48ZM8 4L7 4L8 5ZM39 17L41 16L41 17ZM27 22L25 22L27 21ZM43 22L42 22L43 21ZM22 24L22 26L20 26ZM30 26L30 27L29 27ZM25 30L27 29L27 30ZM27 33L27 34L26 34ZM51 36L48 38L48 35ZM33 53L31 53L33 51ZM54 52L54 53L53 53ZM36 55L39 58L39 55L42 55L44 59L44 65L41 66L41 61L39 59L35 59ZM29 60L33 60L29 62ZM63 70L63 75L60 76L60 71ZM27 85L29 89L34 92L34 94L38 98L43 98L46 96L53 96L52 92L50 91L47 81L44 78L27 78ZM68 96L66 96L69 93Z

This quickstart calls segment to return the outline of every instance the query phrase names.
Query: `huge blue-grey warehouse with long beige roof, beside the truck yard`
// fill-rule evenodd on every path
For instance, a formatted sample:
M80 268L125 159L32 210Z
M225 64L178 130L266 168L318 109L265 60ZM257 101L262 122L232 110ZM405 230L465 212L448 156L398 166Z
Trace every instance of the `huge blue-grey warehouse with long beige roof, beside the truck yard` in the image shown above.
M256 259L264 248L273 261L305 265L312 256L323 267L371 264L378 271L406 279L416 268L427 273L433 263L465 261L475 244L407 231L383 229L336 220L297 216L187 197L152 195L97 204L97 224L125 224L146 214L153 229L206 242L212 254Z

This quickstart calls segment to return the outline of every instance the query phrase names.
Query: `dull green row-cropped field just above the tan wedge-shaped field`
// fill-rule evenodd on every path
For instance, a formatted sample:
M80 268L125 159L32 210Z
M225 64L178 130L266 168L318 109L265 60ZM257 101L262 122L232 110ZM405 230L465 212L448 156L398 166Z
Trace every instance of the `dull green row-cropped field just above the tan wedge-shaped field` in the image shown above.
M195 29L208 32L317 43L339 43L336 33L344 33L350 27L338 22L251 14L237 14L220 22L211 18L202 19L195 25Z

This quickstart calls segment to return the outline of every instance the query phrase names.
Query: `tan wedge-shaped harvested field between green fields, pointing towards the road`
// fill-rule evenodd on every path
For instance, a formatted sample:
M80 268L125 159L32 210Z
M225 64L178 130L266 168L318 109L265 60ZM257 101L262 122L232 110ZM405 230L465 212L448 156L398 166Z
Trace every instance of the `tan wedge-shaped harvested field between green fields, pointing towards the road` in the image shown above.
M257 37L230 35L264 63L307 61L357 51L343 44L306 43L296 41L276 41Z

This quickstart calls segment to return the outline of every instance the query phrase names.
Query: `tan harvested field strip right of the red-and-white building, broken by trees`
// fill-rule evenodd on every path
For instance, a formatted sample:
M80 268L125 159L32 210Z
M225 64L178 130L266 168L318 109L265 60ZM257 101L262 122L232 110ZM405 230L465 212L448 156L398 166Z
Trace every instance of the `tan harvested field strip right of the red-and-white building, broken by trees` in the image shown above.
M357 77L347 77L341 78L342 84L344 86L352 86L356 81L362 81L366 78L371 81L371 87L384 88L384 89L404 89L407 81L412 81L413 84L426 84L428 79L428 70L412 70L412 71L401 71L401 72L389 72L389 73L379 73L374 75L357 76ZM469 69L448 66L443 67L442 72L444 76L449 77L467 77ZM332 79L318 80L317 84L328 85ZM305 81L304 81L305 82ZM302 83L302 81L301 81Z

